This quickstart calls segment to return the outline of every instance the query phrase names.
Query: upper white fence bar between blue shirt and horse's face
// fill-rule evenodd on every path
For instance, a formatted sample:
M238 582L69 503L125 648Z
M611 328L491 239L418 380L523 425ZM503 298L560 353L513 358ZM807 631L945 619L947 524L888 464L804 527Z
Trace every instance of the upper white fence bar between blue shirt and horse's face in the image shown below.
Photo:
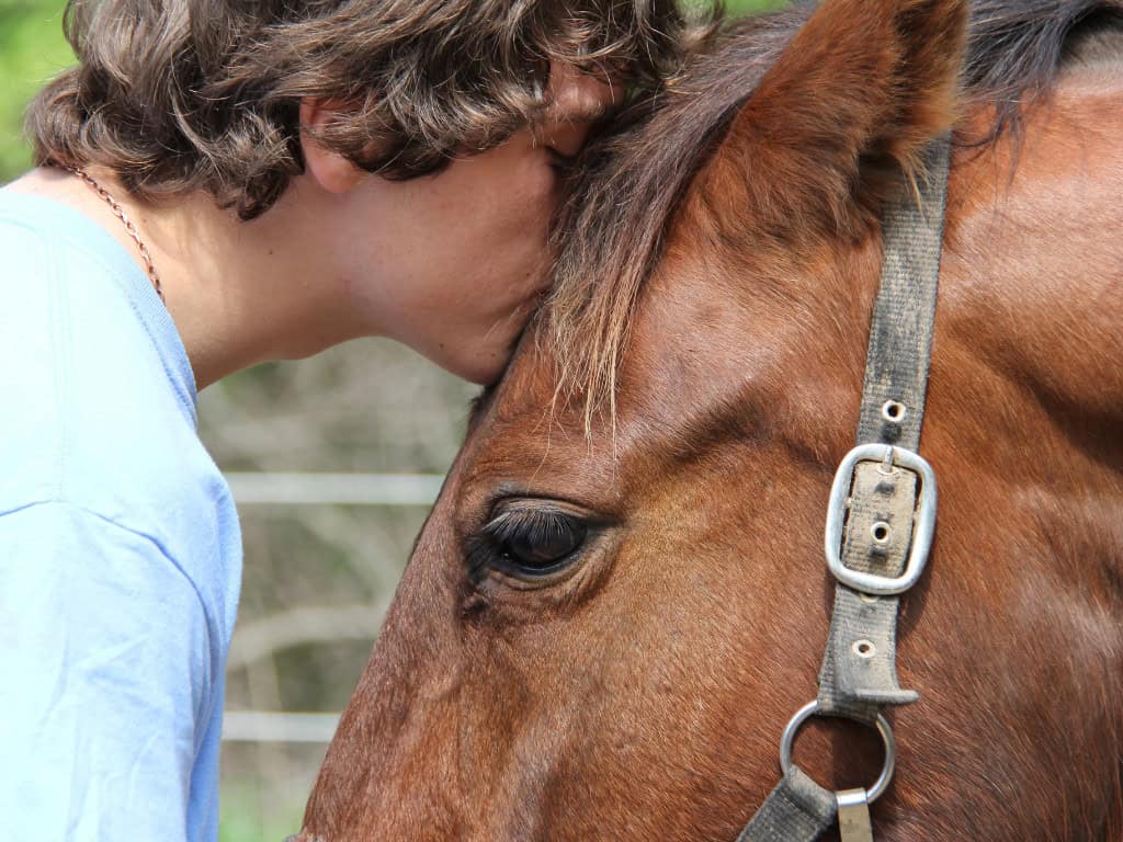
M226 474L239 505L432 505L440 474Z

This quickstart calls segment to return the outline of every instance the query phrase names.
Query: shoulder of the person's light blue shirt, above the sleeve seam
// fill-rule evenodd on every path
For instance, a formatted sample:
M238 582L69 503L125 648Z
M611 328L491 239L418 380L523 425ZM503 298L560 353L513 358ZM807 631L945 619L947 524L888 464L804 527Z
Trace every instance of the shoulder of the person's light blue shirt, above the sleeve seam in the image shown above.
M171 317L116 241L27 199L0 196L13 255L0 275L0 513L62 501L177 557L229 555L216 542L236 532L234 505L199 441Z

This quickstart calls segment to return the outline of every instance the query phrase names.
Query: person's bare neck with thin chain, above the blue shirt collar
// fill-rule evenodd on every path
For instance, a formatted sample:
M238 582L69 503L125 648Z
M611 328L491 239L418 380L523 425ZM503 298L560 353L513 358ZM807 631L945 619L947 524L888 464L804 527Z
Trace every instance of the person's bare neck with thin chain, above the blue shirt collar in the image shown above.
M261 218L243 222L203 193L139 202L103 171L91 175L122 205L152 254L164 300L188 351L198 388L271 359L305 357L376 332L347 301L346 284L318 248L314 202L295 182ZM89 185L40 168L8 189L81 211L144 269L125 226ZM311 207L310 207L311 205Z

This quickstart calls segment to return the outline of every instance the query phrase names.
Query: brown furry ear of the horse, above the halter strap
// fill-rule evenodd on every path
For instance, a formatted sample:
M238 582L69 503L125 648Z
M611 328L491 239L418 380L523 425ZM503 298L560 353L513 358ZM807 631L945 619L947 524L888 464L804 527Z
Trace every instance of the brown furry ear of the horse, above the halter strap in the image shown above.
M780 240L857 235L952 122L966 0L827 0L723 144L754 219ZM719 154L719 157L724 157ZM723 179L724 181L724 179ZM728 185L728 182L725 182Z

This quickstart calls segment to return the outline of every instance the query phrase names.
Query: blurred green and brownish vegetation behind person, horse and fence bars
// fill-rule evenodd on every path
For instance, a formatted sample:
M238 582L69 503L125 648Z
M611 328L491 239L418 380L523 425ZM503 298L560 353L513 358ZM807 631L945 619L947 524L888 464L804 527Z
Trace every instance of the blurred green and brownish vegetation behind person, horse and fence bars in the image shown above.
M746 13L779 4L731 0L727 8ZM0 183L29 166L27 101L72 61L62 2L0 0ZM200 434L226 472L442 475L474 392L408 349L359 340L211 386L200 396ZM246 564L227 711L338 712L426 509L239 500L239 512ZM270 641L271 630L291 631L310 617L323 628ZM250 646L262 640L268 646ZM225 742L221 841L280 842L299 830L325 749L314 741Z

